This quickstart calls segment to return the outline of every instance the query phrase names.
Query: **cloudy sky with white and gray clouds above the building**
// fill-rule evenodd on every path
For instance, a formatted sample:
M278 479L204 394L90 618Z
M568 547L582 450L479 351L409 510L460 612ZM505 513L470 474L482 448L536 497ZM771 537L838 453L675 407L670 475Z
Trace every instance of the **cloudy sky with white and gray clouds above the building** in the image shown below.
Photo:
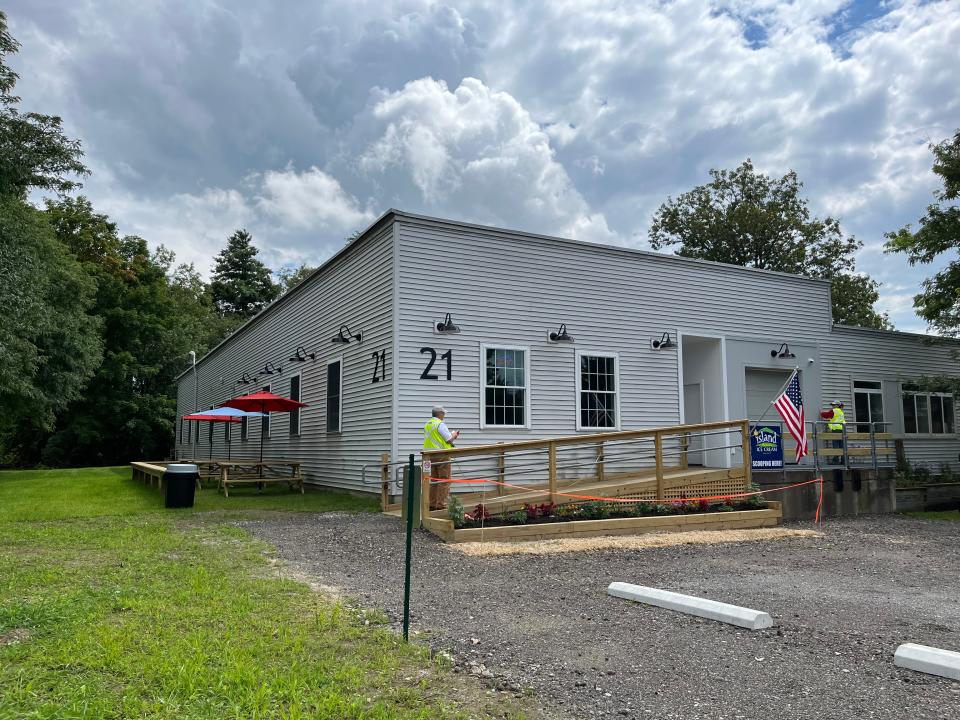
M62 115L125 233L209 270L250 229L319 263L389 207L647 246L667 196L750 157L882 252L960 128L960 2L13 0L24 107Z

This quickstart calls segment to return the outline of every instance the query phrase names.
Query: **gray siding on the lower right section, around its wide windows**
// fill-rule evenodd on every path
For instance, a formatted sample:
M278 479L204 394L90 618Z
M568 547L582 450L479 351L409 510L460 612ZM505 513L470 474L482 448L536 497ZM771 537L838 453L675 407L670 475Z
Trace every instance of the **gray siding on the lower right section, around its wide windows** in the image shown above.
M960 367L952 356L960 344L930 344L922 335L883 332L836 326L823 349L824 402L840 400L846 404L848 421L855 420L853 381L874 380L883 383L885 419L891 421L895 437L902 438L907 459L927 465L934 471L942 463L960 469L960 438L957 435L906 435L900 383L922 376L956 377ZM956 415L956 407L954 407ZM956 417L954 418L956 427Z

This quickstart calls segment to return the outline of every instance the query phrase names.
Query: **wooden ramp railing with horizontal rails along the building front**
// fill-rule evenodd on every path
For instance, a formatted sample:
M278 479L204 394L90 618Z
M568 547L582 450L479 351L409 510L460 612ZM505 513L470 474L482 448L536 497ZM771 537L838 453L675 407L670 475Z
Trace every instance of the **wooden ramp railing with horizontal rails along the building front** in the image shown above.
M691 458L711 459L715 467L691 465ZM476 488L458 493L464 506L482 503L491 513L595 497L641 502L734 494L751 482L746 420L424 450L422 459L428 529L431 517L446 517L429 504L432 471L444 464L453 488Z

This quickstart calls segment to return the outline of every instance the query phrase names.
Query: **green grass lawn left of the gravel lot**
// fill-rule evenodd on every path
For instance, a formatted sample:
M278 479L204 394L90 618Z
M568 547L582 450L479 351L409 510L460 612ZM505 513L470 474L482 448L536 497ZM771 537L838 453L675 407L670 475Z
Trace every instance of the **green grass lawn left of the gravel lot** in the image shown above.
M227 522L373 508L205 490L197 514L126 468L0 473L0 718L531 717Z

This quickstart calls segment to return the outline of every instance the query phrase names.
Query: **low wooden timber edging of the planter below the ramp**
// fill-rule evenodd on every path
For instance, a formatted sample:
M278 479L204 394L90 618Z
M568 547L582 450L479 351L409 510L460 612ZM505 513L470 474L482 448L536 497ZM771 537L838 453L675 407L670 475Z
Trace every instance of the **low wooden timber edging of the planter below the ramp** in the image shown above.
M779 502L768 502L760 510L660 515L611 520L570 520L567 522L500 525L489 528L455 530L452 520L426 517L423 526L444 542L481 540L550 540L556 538L597 537L602 535L640 535L652 532L689 532L691 530L746 530L775 527L783 519Z

